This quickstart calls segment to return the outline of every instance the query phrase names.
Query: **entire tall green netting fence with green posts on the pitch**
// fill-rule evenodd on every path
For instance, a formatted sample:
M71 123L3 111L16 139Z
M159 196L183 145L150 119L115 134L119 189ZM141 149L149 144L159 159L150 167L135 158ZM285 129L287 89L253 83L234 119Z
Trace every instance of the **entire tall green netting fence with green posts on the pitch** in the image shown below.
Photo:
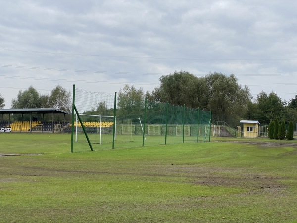
M71 152L210 141L211 111L73 86Z

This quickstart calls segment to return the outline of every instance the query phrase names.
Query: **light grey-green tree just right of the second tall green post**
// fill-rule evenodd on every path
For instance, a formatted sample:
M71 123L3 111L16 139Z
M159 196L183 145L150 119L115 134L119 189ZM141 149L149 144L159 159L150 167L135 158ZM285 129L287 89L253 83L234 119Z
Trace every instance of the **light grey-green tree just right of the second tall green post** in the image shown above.
M134 86L125 85L120 89L117 99L117 116L121 118L138 118L143 114L145 105L145 95L142 90L136 89Z

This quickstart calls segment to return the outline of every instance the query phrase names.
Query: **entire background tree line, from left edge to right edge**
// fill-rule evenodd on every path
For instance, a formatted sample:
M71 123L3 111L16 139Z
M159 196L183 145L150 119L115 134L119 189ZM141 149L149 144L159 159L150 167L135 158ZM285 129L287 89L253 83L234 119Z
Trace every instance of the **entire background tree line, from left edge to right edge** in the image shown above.
M173 105L184 105L189 108L212 111L212 123L226 122L231 127L240 125L240 120L257 120L260 124L269 124L277 117L286 123L297 122L297 95L289 102L283 101L275 92L260 92L255 99L249 88L238 83L234 74L229 76L214 72L204 77L196 77L187 71L175 71L163 75L159 86L146 93L142 88L125 85L119 90L117 107L121 115L130 115L132 106L144 106L144 98L149 101L169 102ZM4 99L0 96L0 107ZM12 100L12 108L57 108L65 111L71 109L71 93L60 85L49 95L40 95L32 86L20 91ZM97 108L85 113L102 113L108 110L104 102Z

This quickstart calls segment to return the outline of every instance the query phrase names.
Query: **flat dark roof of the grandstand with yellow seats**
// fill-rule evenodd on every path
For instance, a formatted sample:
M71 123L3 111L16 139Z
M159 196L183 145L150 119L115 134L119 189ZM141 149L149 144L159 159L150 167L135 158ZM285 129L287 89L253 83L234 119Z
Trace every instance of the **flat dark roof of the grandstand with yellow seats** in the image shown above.
M0 114L72 114L69 111L63 111L60 109L0 109Z

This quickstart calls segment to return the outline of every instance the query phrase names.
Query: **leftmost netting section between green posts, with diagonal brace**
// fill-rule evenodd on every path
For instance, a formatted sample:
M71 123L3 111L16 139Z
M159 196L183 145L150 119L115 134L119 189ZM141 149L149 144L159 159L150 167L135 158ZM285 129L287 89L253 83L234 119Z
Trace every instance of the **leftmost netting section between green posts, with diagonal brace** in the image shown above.
M71 152L114 148L116 93L96 93L73 85Z

